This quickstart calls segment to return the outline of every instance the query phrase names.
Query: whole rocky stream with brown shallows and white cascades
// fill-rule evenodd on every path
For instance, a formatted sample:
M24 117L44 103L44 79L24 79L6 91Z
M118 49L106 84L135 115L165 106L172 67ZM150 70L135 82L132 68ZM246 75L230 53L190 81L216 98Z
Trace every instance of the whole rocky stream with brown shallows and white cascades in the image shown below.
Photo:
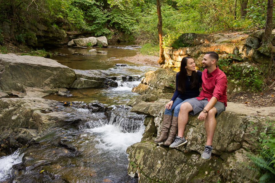
M145 116L131 113L126 103L137 95L131 89L140 83L144 73L157 67L121 59L135 56L138 51L136 47L112 45L110 48L96 49L107 53L59 48L51 51L66 56L52 59L72 69L108 72L109 76L118 78L118 87L69 89L70 95L67 97L47 96L46 99L56 101L74 101L73 107L87 120L78 125L56 127L38 139L39 144L34 143L12 155L1 157L0 182L11 180L17 173L14 165L22 161L26 162L27 169L15 176L13 182L137 182L136 178L127 175L129 162L126 149L141 140ZM72 55L74 52L92 55ZM116 63L127 66L118 67ZM123 81L124 75L134 76L134 79ZM92 112L85 107L89 103L112 107L111 116L107 118L104 112Z

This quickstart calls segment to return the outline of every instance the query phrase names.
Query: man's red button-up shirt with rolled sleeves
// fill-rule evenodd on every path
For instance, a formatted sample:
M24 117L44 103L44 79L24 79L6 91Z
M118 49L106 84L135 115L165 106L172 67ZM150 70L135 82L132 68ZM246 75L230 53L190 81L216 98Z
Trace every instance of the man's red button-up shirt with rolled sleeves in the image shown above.
M203 80L203 83L201 84L202 90L200 93L200 97L196 97L198 100L202 100L207 98L208 101L212 97L216 97L218 101L223 102L225 107L227 106L227 95L226 95L226 89L227 89L227 78L223 71L217 68L211 72L208 73L207 69L203 70L203 75L201 79Z

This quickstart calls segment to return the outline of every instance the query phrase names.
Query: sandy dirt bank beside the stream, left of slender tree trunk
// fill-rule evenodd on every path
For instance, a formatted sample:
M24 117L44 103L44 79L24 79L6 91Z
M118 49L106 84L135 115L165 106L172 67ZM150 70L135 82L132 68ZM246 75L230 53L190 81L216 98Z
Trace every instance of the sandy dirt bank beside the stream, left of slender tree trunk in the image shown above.
M127 60L128 62L160 67L160 64L158 64L158 59L159 59L158 56L148 56L148 55L137 54L136 56L125 57L123 59Z

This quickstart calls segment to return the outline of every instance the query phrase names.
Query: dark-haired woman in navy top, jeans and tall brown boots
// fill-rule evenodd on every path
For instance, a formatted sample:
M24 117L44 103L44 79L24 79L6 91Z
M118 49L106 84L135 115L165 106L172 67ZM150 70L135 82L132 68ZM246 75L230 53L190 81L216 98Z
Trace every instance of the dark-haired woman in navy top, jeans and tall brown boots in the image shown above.
M202 72L196 70L195 65L192 57L186 56L182 58L180 72L176 74L176 90L170 102L165 105L162 131L160 137L156 139L155 142L161 143L166 140L164 145L169 146L174 141L174 137L176 133L178 133L178 113L180 111L180 105L191 98L199 96L199 89L202 84ZM172 120L173 110L174 116ZM168 135L169 129L170 133Z

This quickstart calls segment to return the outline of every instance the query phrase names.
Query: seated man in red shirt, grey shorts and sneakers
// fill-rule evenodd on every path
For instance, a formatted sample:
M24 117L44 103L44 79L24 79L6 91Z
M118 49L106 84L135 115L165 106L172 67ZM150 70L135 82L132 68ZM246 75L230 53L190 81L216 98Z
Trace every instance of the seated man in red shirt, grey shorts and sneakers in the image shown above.
M182 103L178 115L178 136L169 147L178 147L187 142L183 137L185 125L188 122L188 114L199 114L199 120L205 120L207 141L205 150L201 155L204 160L209 160L212 154L212 140L216 128L215 117L227 106L227 78L217 66L219 55L216 52L207 52L203 57L202 90L200 97L196 97Z

